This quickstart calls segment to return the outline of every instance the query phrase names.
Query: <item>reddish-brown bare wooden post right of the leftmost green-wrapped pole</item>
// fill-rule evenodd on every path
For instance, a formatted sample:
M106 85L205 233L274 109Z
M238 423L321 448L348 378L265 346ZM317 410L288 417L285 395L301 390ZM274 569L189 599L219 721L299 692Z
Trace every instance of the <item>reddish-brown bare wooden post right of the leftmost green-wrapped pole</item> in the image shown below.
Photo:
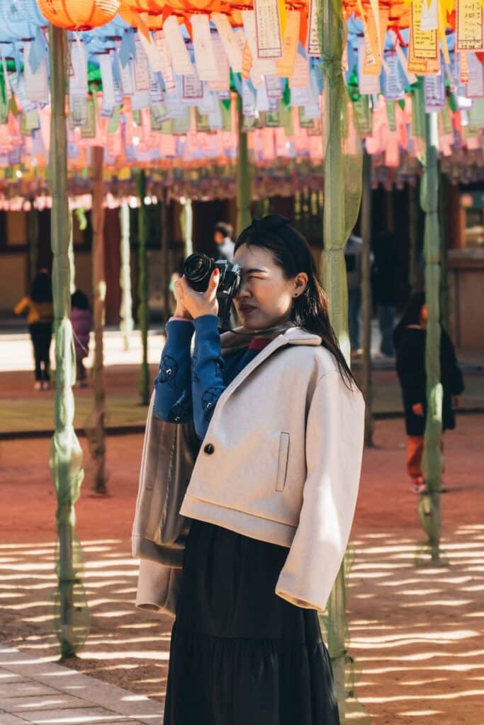
M107 493L106 432L104 426L106 392L104 389L104 305L106 281L104 271L104 209L102 206L102 158L104 149L91 149L92 162L92 289L94 292L94 425L91 433L91 457L94 461L94 486L97 494Z

